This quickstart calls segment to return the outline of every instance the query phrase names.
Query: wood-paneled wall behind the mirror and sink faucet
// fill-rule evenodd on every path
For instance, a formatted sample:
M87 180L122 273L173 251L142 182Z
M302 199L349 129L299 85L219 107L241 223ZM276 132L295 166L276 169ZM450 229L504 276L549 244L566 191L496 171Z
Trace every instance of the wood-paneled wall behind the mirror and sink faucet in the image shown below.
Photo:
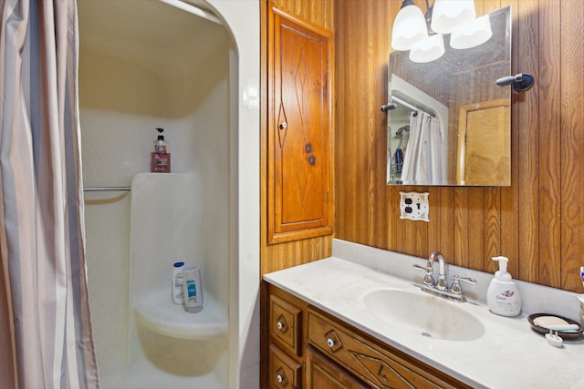
M424 10L425 2L418 1ZM387 60L397 0L336 0L335 237L449 263L509 271L582 292L584 265L584 2L476 0L512 6L513 73L536 84L512 97L508 188L388 187ZM430 193L430 222L399 218L400 190Z

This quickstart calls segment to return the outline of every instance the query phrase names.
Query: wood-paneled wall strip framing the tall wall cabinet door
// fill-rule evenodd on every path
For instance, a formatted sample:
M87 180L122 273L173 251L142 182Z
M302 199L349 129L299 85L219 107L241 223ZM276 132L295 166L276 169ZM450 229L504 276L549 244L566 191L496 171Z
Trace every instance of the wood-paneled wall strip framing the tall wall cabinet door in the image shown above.
M288 14L297 15L313 25L334 31L334 0L274 0L273 4ZM261 273L286 269L297 264L317 261L332 255L332 235L311 238L302 241L291 241L278 244L267 244L267 205L266 205L266 178L267 178L267 102L266 68L267 68L267 40L266 19L267 0L261 2L261 61L262 61L262 106L261 106ZM333 39L334 41L334 39Z

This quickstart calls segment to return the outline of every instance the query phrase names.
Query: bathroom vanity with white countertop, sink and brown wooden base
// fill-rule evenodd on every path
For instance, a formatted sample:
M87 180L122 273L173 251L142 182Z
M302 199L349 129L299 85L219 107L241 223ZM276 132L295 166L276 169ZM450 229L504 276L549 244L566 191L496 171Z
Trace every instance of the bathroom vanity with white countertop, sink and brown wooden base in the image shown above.
M336 257L265 274L264 282L269 387L584 388L584 340L547 344L527 322L529 296L526 312L497 316L473 291L470 302L449 302L422 292L413 277ZM569 303L573 293L564 292ZM541 296L544 312L564 303ZM385 310L400 300L401 317Z

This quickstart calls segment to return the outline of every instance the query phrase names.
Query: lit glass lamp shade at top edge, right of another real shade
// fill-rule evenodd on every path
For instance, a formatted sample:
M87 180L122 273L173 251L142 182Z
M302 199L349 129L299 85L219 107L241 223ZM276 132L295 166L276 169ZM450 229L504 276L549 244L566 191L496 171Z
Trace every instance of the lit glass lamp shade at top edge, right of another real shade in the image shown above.
M474 20L474 0L436 0L430 27L436 33L450 34L454 28Z

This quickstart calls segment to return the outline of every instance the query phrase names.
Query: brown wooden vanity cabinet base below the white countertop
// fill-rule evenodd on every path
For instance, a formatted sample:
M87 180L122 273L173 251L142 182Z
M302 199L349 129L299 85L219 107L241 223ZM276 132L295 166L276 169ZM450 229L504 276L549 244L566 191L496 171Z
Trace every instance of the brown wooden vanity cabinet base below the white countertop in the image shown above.
M269 388L470 388L265 283ZM266 384L264 384L266 387Z

